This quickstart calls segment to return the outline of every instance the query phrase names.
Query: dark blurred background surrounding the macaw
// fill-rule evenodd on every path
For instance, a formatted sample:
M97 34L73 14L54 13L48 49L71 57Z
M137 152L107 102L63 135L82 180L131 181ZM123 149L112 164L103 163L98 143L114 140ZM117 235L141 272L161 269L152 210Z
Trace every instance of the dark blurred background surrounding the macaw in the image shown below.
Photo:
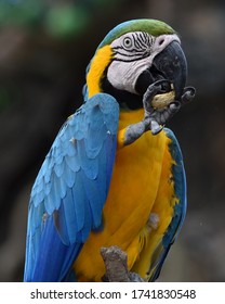
M27 204L85 67L125 20L163 20L182 37L197 97L170 122L184 155L187 217L161 281L225 281L225 2L0 0L0 281L23 278Z

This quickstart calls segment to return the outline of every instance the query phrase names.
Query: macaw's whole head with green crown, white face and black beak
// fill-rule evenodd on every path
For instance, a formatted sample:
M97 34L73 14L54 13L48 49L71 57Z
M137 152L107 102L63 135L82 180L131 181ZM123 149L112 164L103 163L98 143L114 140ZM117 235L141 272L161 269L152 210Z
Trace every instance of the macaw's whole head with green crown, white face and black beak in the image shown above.
M128 21L98 46L87 69L87 93L106 92L121 106L138 109L148 86L160 79L171 81L180 100L186 76L186 59L172 27L156 20Z

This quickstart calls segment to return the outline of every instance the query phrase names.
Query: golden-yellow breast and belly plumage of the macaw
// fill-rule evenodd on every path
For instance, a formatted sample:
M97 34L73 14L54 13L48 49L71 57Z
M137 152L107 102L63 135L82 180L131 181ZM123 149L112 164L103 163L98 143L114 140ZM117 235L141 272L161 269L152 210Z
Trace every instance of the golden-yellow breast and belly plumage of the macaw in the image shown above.
M121 113L119 129L142 117L142 111ZM141 276L145 276L150 255L172 216L169 142L163 131L157 136L148 131L134 143L117 151L110 189L103 210L104 229L91 232L76 259L74 269L78 280L101 281L105 266L100 249L110 245L118 245L125 251L129 269L133 267ZM159 216L155 230L148 225L153 212Z

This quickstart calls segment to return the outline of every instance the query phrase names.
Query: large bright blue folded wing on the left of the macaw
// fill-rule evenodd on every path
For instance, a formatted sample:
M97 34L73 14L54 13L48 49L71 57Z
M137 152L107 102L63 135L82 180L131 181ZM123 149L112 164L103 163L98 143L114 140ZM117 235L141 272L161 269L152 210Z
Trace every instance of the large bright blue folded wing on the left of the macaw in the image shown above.
M118 119L117 101L98 93L59 130L30 195L25 281L68 280L90 231L101 226Z

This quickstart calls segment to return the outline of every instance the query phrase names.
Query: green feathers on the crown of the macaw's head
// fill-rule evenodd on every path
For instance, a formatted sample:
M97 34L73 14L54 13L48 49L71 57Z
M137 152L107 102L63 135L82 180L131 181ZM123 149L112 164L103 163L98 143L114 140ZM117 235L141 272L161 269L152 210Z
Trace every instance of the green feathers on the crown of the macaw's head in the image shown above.
M153 36L175 34L175 30L171 26L158 20L132 20L123 22L112 28L103 39L98 49L110 45L115 39L129 31L146 31Z

